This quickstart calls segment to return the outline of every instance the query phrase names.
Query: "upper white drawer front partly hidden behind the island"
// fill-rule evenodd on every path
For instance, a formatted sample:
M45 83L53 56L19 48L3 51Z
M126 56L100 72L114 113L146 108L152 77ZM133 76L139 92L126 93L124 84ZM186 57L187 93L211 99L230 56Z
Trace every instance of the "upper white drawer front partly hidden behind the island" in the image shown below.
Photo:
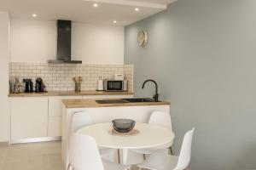
M49 117L61 116L62 99L82 99L82 96L53 96L49 97Z

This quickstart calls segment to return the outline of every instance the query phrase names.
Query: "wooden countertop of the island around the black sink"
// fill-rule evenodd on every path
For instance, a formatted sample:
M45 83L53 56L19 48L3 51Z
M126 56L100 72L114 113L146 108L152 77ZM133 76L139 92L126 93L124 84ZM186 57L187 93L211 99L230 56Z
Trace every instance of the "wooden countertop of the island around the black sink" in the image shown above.
M170 102L141 102L141 103L120 103L120 104L98 104L95 99L62 99L62 104L67 109L71 108L95 108L95 107L120 107L120 106L141 106L141 105L171 105Z

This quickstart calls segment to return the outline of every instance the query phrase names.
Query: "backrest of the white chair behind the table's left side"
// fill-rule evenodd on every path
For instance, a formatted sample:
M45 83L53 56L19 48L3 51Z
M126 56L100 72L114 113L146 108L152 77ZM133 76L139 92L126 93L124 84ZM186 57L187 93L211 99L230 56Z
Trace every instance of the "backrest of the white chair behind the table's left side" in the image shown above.
M72 116L71 131L75 133L79 128L92 124L90 115L86 111L75 112Z

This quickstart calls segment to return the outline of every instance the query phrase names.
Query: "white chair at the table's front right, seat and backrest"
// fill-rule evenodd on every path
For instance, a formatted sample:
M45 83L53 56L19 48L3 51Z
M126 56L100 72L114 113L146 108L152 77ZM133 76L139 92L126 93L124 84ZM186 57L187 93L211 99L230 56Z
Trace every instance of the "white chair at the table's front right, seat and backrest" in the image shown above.
M179 156L170 156L164 153L154 153L137 167L151 170L184 170L188 169L191 156L191 144L195 128L185 134Z

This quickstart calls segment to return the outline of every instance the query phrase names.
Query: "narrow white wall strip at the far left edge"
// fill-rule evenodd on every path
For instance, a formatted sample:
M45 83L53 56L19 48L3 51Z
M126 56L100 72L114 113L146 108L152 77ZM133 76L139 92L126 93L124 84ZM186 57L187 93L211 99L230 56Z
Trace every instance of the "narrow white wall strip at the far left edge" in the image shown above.
M9 141L9 14L0 12L0 142Z

